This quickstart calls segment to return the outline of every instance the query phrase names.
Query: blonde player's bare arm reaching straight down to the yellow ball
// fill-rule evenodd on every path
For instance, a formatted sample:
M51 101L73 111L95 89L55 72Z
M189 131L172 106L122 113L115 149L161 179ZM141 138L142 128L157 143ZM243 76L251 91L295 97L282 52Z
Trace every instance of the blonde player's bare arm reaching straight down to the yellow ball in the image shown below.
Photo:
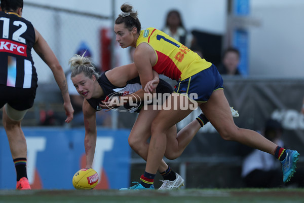
M84 99L83 103L84 123L85 123L85 151L86 151L86 168L92 168L96 139L96 111L88 103L87 99Z

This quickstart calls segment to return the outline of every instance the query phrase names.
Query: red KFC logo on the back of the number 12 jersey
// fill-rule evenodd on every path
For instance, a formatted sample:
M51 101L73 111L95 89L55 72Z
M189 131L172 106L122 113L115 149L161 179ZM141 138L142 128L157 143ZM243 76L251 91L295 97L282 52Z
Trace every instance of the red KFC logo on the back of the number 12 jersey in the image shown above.
M27 56L26 45L4 39L0 39L0 52L7 52L20 56Z

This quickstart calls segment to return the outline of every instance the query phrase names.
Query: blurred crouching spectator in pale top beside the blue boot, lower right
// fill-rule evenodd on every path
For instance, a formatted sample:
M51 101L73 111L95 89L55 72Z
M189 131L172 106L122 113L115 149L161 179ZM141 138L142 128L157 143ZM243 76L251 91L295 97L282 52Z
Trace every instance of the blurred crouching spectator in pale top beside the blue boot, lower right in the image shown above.
M269 119L265 123L264 136L279 146L284 146L281 140L283 127L280 122ZM284 185L281 164L269 153L253 150L242 165L242 178L246 187L284 187L294 185L304 187L304 173L297 168L294 177Z

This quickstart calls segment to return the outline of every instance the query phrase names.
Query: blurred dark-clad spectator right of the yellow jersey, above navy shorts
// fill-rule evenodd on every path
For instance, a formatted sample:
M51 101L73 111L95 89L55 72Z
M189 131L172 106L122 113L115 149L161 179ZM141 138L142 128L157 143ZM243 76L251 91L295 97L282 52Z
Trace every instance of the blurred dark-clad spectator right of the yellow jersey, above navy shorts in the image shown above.
M240 52L235 48L227 48L224 51L222 62L217 69L221 75L241 75L238 70L240 64Z

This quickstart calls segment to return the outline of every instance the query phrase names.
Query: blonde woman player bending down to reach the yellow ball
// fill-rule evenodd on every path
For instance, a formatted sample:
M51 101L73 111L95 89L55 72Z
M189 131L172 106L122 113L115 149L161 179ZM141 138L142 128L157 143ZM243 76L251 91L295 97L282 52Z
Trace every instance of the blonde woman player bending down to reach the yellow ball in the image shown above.
M102 101L111 99L111 95L118 95L120 101L134 99L132 95L138 95L143 99L144 91L141 89L138 72L134 63L116 67L102 75L99 75L94 70L94 67L88 57L75 55L70 58L71 65L71 80L77 89L78 93L84 99L83 113L85 122L85 151L86 151L86 167L91 168L96 146L96 111L100 111L106 106ZM172 87L162 79L159 79L155 73L153 82L150 83L156 87L156 92L172 93ZM135 93L135 94L127 94ZM128 104L124 104L125 107ZM138 109L132 111L139 112L138 117L132 127L129 135L129 145L131 148L144 160L147 158L149 144L148 138L151 135L151 122L159 112L154 110L153 105L147 105L146 108L139 106ZM237 116L238 113L232 110ZM186 127L180 130L176 135L176 126L172 126L167 134L168 145L165 156L168 159L175 159L180 156L188 143L194 138L197 131L208 122L206 117L201 114L196 120L189 123ZM163 185L160 189L174 189L183 185L184 180L166 164L162 159L158 171L164 178Z

